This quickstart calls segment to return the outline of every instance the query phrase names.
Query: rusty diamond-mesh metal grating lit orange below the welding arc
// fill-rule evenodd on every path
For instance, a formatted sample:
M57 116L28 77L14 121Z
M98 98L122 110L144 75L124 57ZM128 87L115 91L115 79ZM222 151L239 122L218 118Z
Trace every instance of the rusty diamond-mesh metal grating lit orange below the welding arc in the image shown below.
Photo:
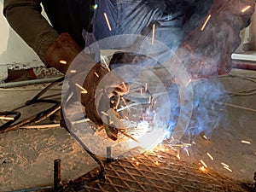
M81 178L90 178L96 172L94 170ZM178 160L171 150L113 161L106 165L106 172L105 183L89 183L82 191L247 191L241 183L228 177L209 170L201 172L198 166Z

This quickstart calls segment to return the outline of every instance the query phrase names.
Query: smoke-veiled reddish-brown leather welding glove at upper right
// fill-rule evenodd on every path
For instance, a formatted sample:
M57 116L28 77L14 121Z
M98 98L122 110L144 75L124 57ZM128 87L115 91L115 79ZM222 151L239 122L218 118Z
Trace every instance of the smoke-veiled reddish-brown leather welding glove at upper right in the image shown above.
M192 79L230 72L231 54L240 44L240 31L247 26L253 11L253 0L213 0L207 16L176 51ZM180 63L177 57L171 63Z

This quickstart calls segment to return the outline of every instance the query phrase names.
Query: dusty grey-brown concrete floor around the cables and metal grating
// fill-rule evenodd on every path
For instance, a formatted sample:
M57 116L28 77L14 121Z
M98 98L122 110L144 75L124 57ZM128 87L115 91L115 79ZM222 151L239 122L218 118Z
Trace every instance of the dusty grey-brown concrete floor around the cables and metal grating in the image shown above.
M219 102L219 125L212 137L201 134L183 138L189 148L176 148L177 157L188 164L207 169L247 183L253 182L256 171L256 72L233 70L232 75L219 78L225 90L240 92L254 89L250 96L229 96ZM249 77L250 79L245 79ZM0 90L1 111L8 111L35 96L44 85L31 85ZM61 86L48 92L49 98L60 99ZM226 103L229 103L226 105ZM24 116L47 105L25 108ZM241 142L244 141L244 142ZM68 181L90 172L96 163L63 128L20 129L0 134L0 191L47 186L53 183L53 161L62 160L62 179ZM213 160L210 158L212 156ZM229 167L224 166L227 164Z

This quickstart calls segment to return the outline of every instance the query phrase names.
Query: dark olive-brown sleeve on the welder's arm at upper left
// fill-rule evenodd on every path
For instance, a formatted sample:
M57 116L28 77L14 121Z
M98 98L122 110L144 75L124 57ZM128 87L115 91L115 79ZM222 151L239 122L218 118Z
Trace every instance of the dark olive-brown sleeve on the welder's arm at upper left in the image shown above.
M45 61L46 50L59 35L41 15L41 2L38 0L4 0L3 15L15 32L25 40L42 61Z

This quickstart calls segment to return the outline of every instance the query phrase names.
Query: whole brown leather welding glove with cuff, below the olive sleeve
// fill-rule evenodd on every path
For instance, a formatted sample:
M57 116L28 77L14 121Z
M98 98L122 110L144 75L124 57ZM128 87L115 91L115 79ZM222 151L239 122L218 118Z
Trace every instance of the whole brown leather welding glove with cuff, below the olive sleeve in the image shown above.
M73 74L67 72L68 67L71 66L71 63L77 55L79 55L79 59L76 59L76 61L81 62L81 65L77 65L75 68L77 73ZM97 93L96 96L97 86L108 73L108 69L96 63L84 79L84 77L82 77L84 65L86 65L86 63L95 63L95 61L90 58L90 55L86 55L82 52L82 49L68 33L61 33L54 44L49 47L45 54L45 61L47 62L46 64L55 67L61 73L67 74L74 92L77 96L81 96L81 102L85 107L86 116L96 125L104 125L108 137L116 140L118 132L124 131L125 126L120 120L118 113L113 110L113 106L116 106L116 103L111 103L110 101L118 101L119 96L129 91L129 85L125 83L116 84L116 82L122 81L118 76L112 75L113 79L109 84L106 84L104 89ZM84 79L84 84L81 85L84 90L87 91L86 94L76 89L76 79ZM96 108L96 104L100 106L100 109ZM110 108L111 110L109 110ZM102 110L105 114L107 113L108 117L104 117L102 111L99 110Z

